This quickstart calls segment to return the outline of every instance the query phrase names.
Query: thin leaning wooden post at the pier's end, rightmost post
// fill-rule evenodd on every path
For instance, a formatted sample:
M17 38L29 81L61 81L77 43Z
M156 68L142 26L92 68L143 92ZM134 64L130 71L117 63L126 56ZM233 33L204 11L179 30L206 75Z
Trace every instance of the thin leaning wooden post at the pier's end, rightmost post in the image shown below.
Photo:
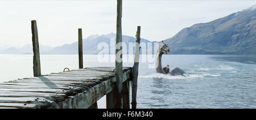
M139 52L140 47L139 44L141 43L141 27L138 26L137 34L136 34L136 44L135 44L135 57L134 57L134 65L132 69L133 74L133 83L132 83L132 100L131 100L131 108L136 109L137 107L137 81L138 81L138 74L139 74Z

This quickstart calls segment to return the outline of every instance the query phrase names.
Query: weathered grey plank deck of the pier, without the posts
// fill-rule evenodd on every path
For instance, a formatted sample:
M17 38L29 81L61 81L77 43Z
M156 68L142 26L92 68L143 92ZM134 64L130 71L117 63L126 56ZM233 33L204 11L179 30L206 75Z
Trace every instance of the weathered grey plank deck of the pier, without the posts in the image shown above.
M0 108L89 108L112 92L114 67L89 67L0 83ZM129 83L131 68L123 67Z

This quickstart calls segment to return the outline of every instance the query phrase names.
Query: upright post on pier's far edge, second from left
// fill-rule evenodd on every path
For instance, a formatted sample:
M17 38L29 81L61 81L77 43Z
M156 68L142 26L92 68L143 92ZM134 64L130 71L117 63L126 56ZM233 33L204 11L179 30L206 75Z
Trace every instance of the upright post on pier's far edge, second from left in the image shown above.
M84 68L82 55L82 29L79 28L79 68Z

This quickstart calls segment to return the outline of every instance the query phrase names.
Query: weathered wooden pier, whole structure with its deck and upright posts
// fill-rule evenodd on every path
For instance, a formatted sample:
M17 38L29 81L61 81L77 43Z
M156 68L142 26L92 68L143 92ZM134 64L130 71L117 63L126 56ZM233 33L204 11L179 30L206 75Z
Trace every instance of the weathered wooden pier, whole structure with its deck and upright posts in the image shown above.
M0 108L97 109L97 100L106 95L107 109L137 105L137 79L141 27L137 27L133 67L122 65L122 0L117 0L117 40L115 67L84 68L82 29L79 28L79 69L41 75L39 36L36 20L31 21L34 77L0 83Z

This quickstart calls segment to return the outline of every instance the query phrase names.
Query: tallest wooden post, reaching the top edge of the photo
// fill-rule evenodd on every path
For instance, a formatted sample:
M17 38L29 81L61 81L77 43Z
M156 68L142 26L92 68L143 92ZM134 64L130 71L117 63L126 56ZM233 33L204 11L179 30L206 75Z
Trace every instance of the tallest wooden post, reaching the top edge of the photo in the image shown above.
M115 108L122 109L122 79L123 79L123 62L122 62L122 0L117 0L117 38L115 48L115 74L117 78L115 93Z

